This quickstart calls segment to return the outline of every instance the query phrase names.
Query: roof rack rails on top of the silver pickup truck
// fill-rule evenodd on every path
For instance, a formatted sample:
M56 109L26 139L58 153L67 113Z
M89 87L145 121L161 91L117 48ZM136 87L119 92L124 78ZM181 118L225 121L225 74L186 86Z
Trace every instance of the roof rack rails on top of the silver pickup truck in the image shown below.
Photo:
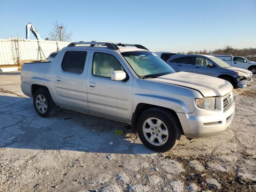
M91 41L91 42L84 42L84 41L80 41L80 42L72 42L70 44L68 44L67 47L72 47L72 46L76 46L76 45L90 45L91 47L95 46L95 45L104 45L107 46L107 48L112 49L112 50L118 50L118 46L133 46L139 49L145 49L148 50L146 47L139 45L139 44L122 44L119 42L105 42L105 41Z

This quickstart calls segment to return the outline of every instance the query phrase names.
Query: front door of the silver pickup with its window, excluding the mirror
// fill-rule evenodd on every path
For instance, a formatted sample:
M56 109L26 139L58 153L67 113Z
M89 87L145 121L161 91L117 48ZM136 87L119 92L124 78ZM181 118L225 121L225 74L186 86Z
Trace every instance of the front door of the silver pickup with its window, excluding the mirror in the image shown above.
M87 74L88 109L91 114L128 122L132 109L132 75L118 55L92 50ZM122 70L128 77L112 81L111 72Z

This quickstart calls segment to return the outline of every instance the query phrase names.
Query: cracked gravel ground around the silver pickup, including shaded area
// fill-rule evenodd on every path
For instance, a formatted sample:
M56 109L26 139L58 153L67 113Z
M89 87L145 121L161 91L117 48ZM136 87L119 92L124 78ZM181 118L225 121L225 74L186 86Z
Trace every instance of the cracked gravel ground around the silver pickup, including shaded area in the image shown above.
M1 73L0 191L256 191L256 84L233 92L236 114L224 133L182 136L161 154L124 123L61 108L40 118L20 74Z

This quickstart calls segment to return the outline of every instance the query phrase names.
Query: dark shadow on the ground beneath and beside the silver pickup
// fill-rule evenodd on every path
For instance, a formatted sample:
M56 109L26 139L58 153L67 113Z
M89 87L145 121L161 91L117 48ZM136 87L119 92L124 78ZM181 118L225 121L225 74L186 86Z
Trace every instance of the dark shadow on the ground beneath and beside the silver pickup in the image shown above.
M0 95L0 148L152 154L127 124L59 108L36 114L31 98ZM115 130L124 134L116 135Z

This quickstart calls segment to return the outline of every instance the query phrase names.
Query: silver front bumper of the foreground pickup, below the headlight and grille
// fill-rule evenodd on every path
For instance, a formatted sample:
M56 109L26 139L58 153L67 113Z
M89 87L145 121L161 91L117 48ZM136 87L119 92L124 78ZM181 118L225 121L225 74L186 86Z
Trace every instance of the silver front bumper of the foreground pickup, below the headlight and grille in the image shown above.
M178 118L187 138L205 138L216 136L226 130L232 123L235 114L235 104L223 109L211 110L207 113L205 110L196 108L193 113L177 113Z

